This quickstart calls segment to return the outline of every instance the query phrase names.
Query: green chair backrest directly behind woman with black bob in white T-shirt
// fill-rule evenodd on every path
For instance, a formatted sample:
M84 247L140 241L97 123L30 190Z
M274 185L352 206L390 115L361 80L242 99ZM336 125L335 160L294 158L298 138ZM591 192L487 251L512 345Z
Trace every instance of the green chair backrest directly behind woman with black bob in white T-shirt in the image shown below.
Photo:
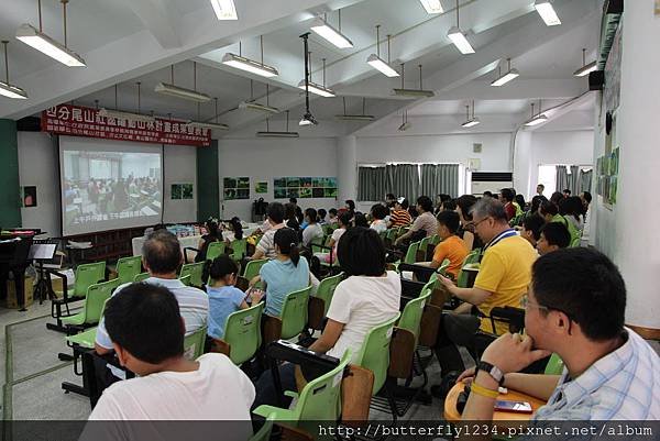
M355 364L374 373L374 388L372 395L376 395L387 378L389 367L389 342L394 323L398 320L400 312L392 319L373 328L362 343Z

